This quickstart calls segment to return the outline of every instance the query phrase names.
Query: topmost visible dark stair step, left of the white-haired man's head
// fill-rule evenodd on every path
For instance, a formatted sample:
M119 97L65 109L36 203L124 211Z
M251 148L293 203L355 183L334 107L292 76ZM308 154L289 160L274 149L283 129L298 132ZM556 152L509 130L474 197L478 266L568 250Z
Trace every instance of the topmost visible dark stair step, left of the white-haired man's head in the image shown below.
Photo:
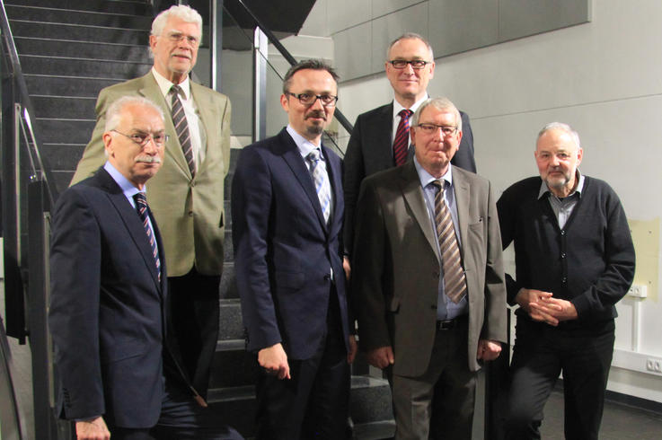
M56 2L51 2L51 4ZM84 3L84 2L79 2ZM37 7L27 5L7 5L5 8L10 20L20 18L29 22L84 23L90 26L109 26L111 28L150 29L152 17L129 15L126 13L103 13L98 11L80 11L57 7Z

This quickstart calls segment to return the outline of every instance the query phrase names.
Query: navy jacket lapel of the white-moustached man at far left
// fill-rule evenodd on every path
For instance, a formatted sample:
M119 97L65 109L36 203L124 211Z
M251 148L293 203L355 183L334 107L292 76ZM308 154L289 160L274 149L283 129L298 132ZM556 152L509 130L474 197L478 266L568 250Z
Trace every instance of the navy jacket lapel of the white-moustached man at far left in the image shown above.
M158 291L162 293L162 286L159 283L158 272L156 271L156 265L154 263L154 256L152 255L152 248L149 245L147 240L147 235L145 233L145 227L142 222L140 222L140 217L137 214L137 210L131 207L131 204L128 202L126 196L119 188L115 180L110 177L110 174L105 170L101 169L99 172L99 179L102 182L102 187L107 190L108 198L110 203L117 209L119 216L122 218L125 227L127 228L128 234L136 243L140 255L143 256L145 264L149 273L152 275L154 280L154 285L157 287ZM154 222L154 217L152 217ZM159 251L162 255L161 260L163 260L163 244L157 242L160 245Z

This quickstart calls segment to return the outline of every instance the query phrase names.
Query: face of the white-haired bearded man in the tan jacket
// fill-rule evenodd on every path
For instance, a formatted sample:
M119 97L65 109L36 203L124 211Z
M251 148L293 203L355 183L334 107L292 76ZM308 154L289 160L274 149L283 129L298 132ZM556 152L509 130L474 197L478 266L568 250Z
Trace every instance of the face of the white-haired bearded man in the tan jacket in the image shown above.
M198 59L200 29L194 22L172 16L159 36L150 35L149 47L154 54L154 68L172 82L180 84Z

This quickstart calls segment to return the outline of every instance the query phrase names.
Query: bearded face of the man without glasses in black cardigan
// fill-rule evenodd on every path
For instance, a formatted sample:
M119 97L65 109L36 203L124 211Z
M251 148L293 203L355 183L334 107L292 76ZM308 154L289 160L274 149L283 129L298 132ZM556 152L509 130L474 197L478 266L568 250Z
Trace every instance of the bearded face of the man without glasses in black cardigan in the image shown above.
M535 163L547 188L557 197L568 196L577 185L577 167L584 152L567 131L552 128L538 138Z

